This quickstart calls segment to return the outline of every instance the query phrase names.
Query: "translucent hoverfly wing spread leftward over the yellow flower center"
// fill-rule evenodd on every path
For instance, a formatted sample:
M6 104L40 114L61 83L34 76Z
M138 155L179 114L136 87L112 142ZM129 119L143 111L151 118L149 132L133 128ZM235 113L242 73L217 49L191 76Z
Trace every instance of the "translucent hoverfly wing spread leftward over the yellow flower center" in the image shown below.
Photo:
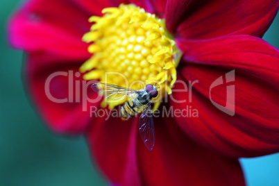
M91 85L92 90L101 96L104 96L107 101L121 101L126 99L126 96L134 94L137 90L128 89L126 87L119 87L107 83L94 83Z

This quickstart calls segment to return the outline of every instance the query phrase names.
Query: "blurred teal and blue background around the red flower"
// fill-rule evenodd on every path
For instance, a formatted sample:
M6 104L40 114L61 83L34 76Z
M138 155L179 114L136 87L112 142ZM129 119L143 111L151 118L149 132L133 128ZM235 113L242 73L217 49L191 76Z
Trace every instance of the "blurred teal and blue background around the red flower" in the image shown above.
M22 52L7 44L6 22L18 0L0 1L0 185L106 185L83 137L51 133L28 102ZM279 48L279 16L264 35ZM268 88L268 87L267 87ZM279 154L242 158L248 186L279 185Z

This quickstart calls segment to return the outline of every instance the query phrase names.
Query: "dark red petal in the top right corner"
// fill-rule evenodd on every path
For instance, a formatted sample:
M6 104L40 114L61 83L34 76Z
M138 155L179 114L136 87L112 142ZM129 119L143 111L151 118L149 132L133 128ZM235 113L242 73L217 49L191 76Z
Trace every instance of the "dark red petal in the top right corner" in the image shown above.
M276 16L279 1L169 1L167 7L167 28L176 31L178 37L188 40L223 35L262 37Z

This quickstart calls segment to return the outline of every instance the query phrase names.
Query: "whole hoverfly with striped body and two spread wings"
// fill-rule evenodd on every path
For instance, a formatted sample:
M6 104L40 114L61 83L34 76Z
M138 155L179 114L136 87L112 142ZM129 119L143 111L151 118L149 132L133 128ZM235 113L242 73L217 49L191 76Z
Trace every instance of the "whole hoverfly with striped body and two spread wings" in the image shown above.
M121 118L126 120L142 112L139 119L140 136L147 149L152 151L155 145L155 131L151 114L151 100L158 96L159 87L148 84L144 89L133 90L107 83L94 83L91 87L108 101L131 98L121 106Z

